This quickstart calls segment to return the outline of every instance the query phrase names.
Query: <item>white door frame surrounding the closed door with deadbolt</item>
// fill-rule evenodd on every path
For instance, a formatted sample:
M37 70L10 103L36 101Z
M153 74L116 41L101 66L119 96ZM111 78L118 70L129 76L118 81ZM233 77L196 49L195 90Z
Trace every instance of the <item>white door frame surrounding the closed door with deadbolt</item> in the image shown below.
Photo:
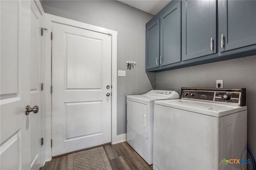
M117 135L117 31L109 30L106 28L85 24L75 20L54 16L51 14L44 14L44 27L48 28L48 31L44 31L44 75L45 75L45 160L50 161L52 159L52 95L50 93L50 86L52 81L52 41L51 41L51 30L52 22L65 24L68 26L74 26L94 32L100 32L103 34L111 34L111 83L112 83L112 103L111 103L111 143L116 144L126 140L126 134ZM54 33L53 33L54 39Z

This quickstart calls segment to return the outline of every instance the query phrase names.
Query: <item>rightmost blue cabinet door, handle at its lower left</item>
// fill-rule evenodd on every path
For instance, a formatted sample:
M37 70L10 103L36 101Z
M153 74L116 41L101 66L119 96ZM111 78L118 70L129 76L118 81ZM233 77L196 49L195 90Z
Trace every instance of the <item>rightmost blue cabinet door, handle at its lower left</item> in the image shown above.
M256 44L255 0L218 1L218 14L220 51Z

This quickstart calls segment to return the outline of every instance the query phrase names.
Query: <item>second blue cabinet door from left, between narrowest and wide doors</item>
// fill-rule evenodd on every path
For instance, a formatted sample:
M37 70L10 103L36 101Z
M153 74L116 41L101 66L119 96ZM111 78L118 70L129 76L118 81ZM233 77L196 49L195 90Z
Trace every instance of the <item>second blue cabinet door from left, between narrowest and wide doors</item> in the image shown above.
M160 17L160 65L181 61L181 2Z

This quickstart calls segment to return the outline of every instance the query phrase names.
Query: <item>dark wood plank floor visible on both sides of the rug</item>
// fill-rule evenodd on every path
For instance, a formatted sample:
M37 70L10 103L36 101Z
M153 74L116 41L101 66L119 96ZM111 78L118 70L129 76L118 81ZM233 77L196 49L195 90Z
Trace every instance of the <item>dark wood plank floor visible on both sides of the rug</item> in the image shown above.
M103 146L113 170L152 170L140 155L127 143ZM68 156L60 156L46 162L40 170L66 170Z

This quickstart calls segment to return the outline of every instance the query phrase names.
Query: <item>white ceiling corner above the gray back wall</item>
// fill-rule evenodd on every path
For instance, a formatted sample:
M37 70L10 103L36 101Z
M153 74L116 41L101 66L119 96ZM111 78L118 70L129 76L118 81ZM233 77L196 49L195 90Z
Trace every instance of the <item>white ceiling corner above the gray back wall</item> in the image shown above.
M142 11L156 15L162 10L171 0L118 0L124 4L133 6Z

